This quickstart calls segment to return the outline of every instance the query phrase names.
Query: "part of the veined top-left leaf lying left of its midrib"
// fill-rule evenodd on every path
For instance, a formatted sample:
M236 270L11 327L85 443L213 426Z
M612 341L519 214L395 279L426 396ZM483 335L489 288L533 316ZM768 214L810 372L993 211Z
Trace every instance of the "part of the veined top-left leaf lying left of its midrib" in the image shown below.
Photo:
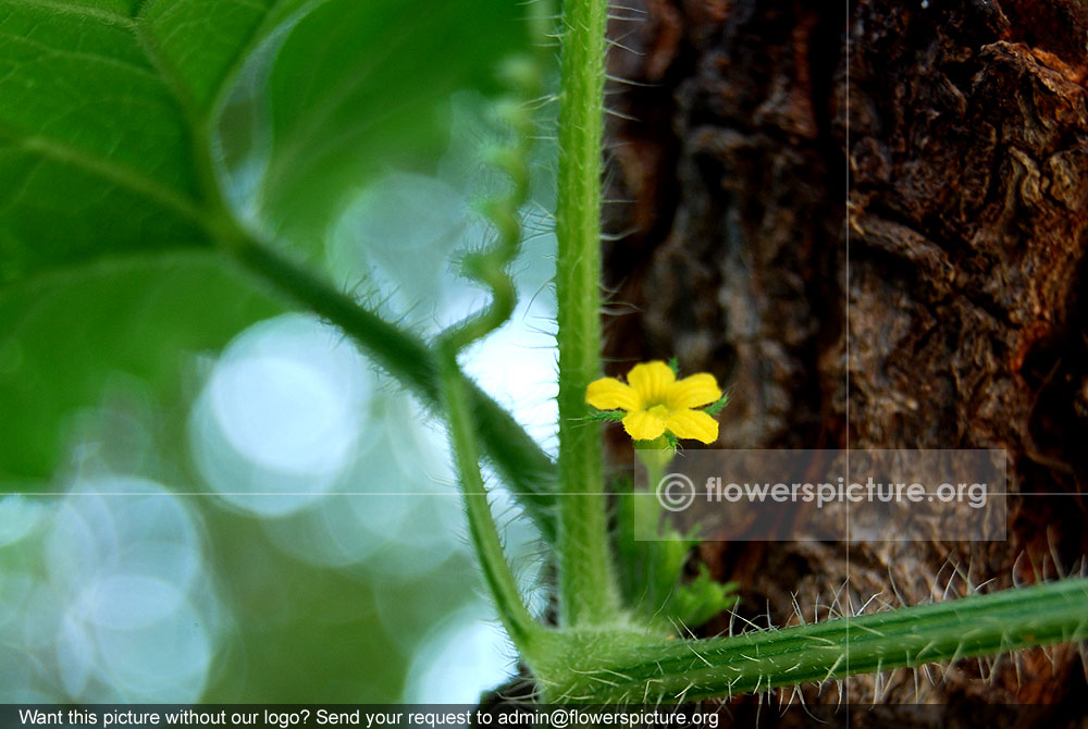
M188 129L121 4L0 0L0 283L207 242Z

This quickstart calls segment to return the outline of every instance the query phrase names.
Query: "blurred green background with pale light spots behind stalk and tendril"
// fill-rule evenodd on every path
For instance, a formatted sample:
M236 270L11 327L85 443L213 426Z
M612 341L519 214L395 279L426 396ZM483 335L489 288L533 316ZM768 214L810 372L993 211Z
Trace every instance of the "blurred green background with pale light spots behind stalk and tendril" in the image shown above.
M456 260L489 243L475 206L506 184L483 160L522 12L353 0L292 20L219 125L238 214L417 331L480 307ZM554 450L537 155L521 302L465 364ZM212 255L0 288L0 701L474 702L514 652L448 462L441 422L351 342ZM536 535L493 485L541 607Z

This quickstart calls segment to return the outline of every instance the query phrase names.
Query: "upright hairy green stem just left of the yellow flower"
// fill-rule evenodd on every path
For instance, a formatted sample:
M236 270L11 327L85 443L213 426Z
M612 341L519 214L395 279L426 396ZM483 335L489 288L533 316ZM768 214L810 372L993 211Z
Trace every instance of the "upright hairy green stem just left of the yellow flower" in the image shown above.
M568 0L564 12L556 210L559 347L559 620L616 619L619 590L608 545L601 428L585 387L601 374L601 143L605 0Z

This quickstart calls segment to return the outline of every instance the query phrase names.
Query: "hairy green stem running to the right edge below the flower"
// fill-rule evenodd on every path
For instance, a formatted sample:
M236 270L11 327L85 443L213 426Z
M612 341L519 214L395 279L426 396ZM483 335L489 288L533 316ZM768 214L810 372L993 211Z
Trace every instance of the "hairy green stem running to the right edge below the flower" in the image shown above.
M565 650L541 668L555 701L691 701L1083 641L1088 580L732 638L615 650L593 635L561 638Z

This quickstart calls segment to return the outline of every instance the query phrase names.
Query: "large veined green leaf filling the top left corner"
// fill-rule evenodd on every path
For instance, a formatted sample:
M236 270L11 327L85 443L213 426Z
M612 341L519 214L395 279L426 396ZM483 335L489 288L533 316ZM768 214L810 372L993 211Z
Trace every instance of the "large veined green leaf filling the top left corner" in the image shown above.
M312 1L0 0L0 284L210 246L213 116Z

